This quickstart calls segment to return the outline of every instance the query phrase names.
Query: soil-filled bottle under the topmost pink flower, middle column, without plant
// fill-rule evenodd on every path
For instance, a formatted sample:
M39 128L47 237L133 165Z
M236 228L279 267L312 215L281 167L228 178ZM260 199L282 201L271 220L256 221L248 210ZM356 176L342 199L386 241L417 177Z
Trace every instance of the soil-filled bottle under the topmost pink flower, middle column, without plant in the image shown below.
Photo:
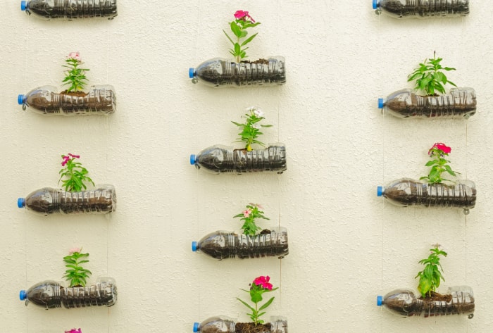
M210 87L275 86L286 83L286 61L275 56L258 61L237 63L224 58L204 61L189 69L192 82L204 82Z

